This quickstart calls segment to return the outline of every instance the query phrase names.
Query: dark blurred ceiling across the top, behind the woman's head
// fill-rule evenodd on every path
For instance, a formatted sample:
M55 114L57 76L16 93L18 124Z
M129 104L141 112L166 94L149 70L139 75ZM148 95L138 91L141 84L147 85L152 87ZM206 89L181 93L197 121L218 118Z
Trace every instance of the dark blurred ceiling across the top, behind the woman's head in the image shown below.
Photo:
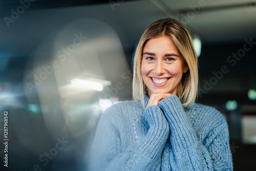
M203 42L256 37L256 1L119 1L112 6L110 1L67 2L35 1L9 27L1 19L0 56L30 55L54 30L80 18L99 19L110 25L118 33L124 49L133 49L148 25L167 16L183 21L191 35L200 35ZM18 1L1 1L1 4L2 18L11 18L11 9L17 11L21 5ZM193 13L196 6L201 7Z

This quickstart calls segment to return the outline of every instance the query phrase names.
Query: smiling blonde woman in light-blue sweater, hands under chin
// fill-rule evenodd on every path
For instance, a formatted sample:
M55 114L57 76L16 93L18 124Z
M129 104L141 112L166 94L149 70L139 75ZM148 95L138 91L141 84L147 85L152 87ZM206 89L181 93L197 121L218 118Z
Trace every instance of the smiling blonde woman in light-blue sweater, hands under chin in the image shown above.
M186 28L172 18L151 24L134 56L134 100L98 123L94 170L232 170L225 118L195 103L197 70Z

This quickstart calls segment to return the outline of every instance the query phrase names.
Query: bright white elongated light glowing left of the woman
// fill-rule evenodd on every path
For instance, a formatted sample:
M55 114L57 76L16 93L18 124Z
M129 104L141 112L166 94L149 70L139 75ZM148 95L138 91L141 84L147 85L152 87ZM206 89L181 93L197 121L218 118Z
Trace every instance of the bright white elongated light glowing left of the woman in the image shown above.
M84 79L72 79L71 85L77 88L90 89L101 92L103 90L103 84L96 81L84 80Z

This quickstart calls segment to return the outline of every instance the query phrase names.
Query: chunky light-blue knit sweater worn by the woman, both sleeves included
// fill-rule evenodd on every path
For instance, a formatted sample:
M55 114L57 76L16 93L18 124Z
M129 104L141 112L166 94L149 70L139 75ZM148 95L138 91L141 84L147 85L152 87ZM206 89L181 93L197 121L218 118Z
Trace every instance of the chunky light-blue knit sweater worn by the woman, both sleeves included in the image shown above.
M233 170L227 122L209 106L184 108L175 95L146 108L120 102L99 120L91 164L92 170Z

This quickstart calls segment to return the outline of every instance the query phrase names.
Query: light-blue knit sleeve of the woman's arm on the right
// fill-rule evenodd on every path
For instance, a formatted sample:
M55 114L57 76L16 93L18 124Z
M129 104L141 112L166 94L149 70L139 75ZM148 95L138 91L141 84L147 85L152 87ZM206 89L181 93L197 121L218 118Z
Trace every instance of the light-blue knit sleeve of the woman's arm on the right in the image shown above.
M173 170L233 170L224 117L207 125L205 137L200 141L177 96L161 100L159 106L170 126L170 166Z

